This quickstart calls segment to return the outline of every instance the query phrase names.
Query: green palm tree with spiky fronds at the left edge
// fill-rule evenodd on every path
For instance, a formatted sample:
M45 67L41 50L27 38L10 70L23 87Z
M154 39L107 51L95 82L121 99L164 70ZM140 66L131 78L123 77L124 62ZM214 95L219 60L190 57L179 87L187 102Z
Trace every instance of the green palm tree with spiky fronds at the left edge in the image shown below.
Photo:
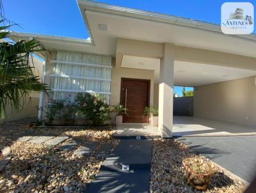
M1 2L0 2L1 3ZM5 25L6 19L0 20L0 118L4 118L6 105L19 111L26 102L30 91L46 91L47 86L40 82L40 77L34 75L33 54L44 52L40 42L36 40L19 40L16 43L6 42L10 36L10 25ZM29 61L32 58L32 62Z

